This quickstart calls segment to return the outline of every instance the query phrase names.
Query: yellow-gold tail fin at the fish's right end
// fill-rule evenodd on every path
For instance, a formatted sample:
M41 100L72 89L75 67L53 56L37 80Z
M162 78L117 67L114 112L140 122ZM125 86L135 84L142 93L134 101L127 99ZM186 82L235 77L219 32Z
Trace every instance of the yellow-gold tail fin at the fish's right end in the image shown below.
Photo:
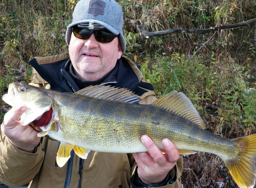
M236 157L223 160L240 188L253 188L256 181L256 134L231 139L240 151Z

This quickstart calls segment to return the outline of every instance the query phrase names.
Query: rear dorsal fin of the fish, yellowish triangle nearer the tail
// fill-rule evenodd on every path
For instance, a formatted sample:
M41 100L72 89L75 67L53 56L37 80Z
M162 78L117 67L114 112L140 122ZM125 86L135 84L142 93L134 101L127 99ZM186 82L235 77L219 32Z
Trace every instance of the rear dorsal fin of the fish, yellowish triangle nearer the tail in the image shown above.
M182 92L172 91L155 101L153 105L165 108L166 110L191 120L202 128L206 128L196 108Z

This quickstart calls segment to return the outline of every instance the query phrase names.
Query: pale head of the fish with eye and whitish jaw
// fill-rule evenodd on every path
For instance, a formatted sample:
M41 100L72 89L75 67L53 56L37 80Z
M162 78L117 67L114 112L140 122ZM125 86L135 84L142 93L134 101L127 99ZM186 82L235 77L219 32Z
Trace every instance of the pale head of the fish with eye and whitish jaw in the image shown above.
M27 106L20 118L21 125L40 118L53 105L53 94L50 90L19 82L9 84L8 93L2 99L12 107Z

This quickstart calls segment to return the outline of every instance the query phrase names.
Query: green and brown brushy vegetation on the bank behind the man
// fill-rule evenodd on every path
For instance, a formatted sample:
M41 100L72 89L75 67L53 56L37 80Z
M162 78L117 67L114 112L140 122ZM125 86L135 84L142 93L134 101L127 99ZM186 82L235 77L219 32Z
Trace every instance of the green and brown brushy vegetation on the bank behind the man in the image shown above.
M28 60L67 52L65 31L78 0L1 0L0 95L14 81L30 82ZM208 131L235 138L256 133L256 23L205 35L173 33L142 39L148 31L209 28L256 18L255 0L119 0L124 12L124 55L142 66L157 97L184 92ZM135 21L135 22L134 22ZM10 109L0 99L0 122ZM184 156L182 184L237 187L212 154Z

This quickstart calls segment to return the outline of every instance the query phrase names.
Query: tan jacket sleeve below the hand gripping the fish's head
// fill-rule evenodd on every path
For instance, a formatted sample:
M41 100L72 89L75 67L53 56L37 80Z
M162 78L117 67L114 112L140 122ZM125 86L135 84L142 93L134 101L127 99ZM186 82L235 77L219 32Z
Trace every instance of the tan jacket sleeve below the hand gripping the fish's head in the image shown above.
M3 133L2 136L3 141L0 139L0 182L11 187L29 183L38 173L44 159L41 144L35 148L34 153L28 153L12 145Z

